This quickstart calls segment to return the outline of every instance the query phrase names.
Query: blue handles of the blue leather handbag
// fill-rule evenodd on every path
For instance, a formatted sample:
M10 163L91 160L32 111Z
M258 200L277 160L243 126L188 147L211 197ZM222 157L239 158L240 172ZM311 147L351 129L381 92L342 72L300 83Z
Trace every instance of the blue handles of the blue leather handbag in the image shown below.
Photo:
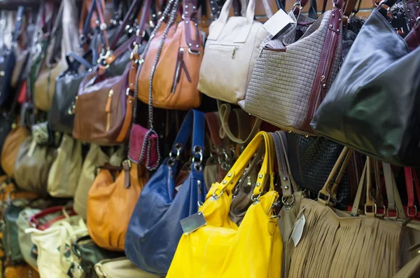
M202 160L202 153L204 152L204 128L204 113L194 109L188 111L172 145L172 153L182 153L188 139L193 137L193 155L195 158Z

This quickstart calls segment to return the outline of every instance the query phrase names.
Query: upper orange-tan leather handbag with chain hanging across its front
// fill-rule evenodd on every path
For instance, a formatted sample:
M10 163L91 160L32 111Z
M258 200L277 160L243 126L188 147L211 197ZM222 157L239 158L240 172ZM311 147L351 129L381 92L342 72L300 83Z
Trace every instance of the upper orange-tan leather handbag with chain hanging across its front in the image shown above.
M174 24L180 0L169 1L156 25L148 47L139 59L134 47L132 57L139 62L130 71L130 89L138 77L138 97L153 107L188 110L200 106L197 90L203 55L202 36L195 25L195 0L183 1L183 20ZM163 19L169 20L164 22ZM137 44L141 42L138 36ZM147 54L146 54L147 53Z

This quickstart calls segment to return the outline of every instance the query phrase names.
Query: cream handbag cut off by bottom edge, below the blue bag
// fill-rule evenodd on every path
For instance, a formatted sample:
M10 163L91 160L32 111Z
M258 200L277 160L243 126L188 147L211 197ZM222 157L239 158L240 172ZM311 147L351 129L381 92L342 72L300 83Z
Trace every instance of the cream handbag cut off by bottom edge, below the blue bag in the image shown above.
M158 278L157 275L140 270L125 257L101 260L94 265L99 278Z

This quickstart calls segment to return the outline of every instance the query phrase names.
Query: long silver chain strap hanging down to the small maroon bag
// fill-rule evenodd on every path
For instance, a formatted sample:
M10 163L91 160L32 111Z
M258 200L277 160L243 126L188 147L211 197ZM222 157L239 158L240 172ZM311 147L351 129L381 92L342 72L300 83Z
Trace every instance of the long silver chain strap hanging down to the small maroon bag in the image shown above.
M166 39L167 34L169 32L169 27L171 27L174 23L175 15L176 15L176 12L177 12L177 9L178 9L178 5L179 5L179 0L171 0L167 4L167 6L165 8L165 11L163 11L163 13L162 13L162 17L160 18L160 20L158 21L158 24L153 29L153 32L150 36L150 39L146 43L146 46L144 48L143 53L141 53L141 55L139 57L139 66L137 67L137 73L136 73L136 81L135 81L135 88L134 88L133 124L136 123L136 119L137 119L137 105L138 105L138 102L139 102L139 99L138 99L138 96L139 96L138 84L139 84L140 71L143 68L143 64L144 64L144 57L146 57L146 54L148 52L148 48L151 45L152 39L158 33L158 31L159 31L160 27L162 26L162 23L164 22L165 18L167 18L167 16L169 15L169 12L171 12L170 17L169 17L169 22L168 22L167 27L165 28L165 32L162 36L162 41L160 42L160 47L159 47L159 50L158 50L158 54L156 55L155 64L153 65L153 68L152 68L152 71L151 71L151 82L150 82L150 85L149 85L149 103L148 103L148 118L149 118L150 129L148 130L148 132L146 133L146 136L144 137L144 141L146 141L147 144L143 144L143 146L141 147L141 155L140 155L140 159L139 159L139 162L143 161L145 156L146 156L146 153L147 153L146 169L151 170L151 171L158 168L159 161L160 161L159 135L158 135L157 132L155 132L155 130L153 128L152 81L153 81L153 76L155 74L156 66L158 64L160 53L162 52L163 43L165 42L165 39ZM153 134L155 134L156 137L157 137L156 147L157 147L157 152L158 152L158 163L155 165L155 167L151 166L151 148L152 148L151 136ZM131 145L131 136L130 136L129 146L130 145Z

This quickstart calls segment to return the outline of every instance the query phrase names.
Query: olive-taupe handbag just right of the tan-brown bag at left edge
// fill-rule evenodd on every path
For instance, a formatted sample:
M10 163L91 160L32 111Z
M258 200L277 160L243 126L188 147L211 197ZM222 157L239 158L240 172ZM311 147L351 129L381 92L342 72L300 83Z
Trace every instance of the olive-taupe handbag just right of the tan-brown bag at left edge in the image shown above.
M22 190L46 195L48 173L55 156L55 148L34 144L33 137L27 137L16 158L14 176L17 186Z

